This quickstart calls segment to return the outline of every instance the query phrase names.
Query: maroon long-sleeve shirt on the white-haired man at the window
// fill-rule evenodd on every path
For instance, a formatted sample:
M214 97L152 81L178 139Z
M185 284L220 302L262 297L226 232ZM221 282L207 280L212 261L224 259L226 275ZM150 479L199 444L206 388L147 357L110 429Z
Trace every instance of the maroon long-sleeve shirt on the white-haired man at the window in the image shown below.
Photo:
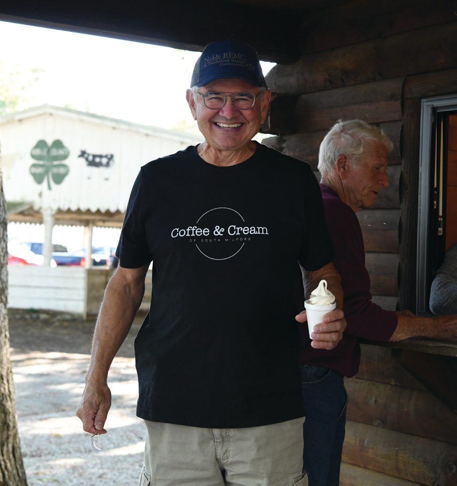
M335 252L333 264L341 276L344 291L347 328L334 349L314 349L307 323L300 324L300 362L318 364L352 377L360 364L358 338L387 341L397 327L398 318L395 312L371 301L370 275L365 267L364 241L356 213L328 186L320 184L320 189Z

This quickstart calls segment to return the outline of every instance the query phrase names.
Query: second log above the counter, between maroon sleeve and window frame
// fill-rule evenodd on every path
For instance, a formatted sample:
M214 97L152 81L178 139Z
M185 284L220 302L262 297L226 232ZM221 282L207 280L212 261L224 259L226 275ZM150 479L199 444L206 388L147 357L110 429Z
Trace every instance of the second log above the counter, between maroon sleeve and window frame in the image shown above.
M365 266L371 279L371 292L377 295L398 295L398 254L367 253Z

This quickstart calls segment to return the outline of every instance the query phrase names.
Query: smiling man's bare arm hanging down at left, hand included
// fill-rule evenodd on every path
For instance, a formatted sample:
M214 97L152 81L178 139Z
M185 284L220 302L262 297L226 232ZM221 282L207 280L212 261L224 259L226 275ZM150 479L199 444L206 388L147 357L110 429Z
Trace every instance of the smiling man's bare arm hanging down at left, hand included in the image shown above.
M148 267L118 267L106 286L95 325L86 387L76 411L86 432L106 433L103 427L111 406L106 382L109 367L140 307Z

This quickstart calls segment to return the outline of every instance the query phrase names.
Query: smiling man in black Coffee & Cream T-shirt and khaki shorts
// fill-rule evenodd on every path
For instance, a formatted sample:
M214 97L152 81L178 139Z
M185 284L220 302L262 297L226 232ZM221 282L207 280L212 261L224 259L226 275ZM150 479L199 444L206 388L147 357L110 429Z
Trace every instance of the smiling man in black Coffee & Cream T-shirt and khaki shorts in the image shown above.
M333 348L346 324L317 181L252 140L270 97L254 49L209 44L186 92L203 143L146 164L132 190L77 414L85 431L105 433L108 369L153 261L135 342L144 486L307 484L297 262L339 303L313 346Z

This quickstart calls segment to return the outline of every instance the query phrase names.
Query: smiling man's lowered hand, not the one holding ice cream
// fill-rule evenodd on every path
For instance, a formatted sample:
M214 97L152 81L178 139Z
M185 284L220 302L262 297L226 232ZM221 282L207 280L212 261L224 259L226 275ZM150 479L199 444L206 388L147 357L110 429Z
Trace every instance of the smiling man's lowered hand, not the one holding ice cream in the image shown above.
M106 434L103 427L110 407L111 392L106 384L98 388L86 385L76 410L83 430L91 434Z

